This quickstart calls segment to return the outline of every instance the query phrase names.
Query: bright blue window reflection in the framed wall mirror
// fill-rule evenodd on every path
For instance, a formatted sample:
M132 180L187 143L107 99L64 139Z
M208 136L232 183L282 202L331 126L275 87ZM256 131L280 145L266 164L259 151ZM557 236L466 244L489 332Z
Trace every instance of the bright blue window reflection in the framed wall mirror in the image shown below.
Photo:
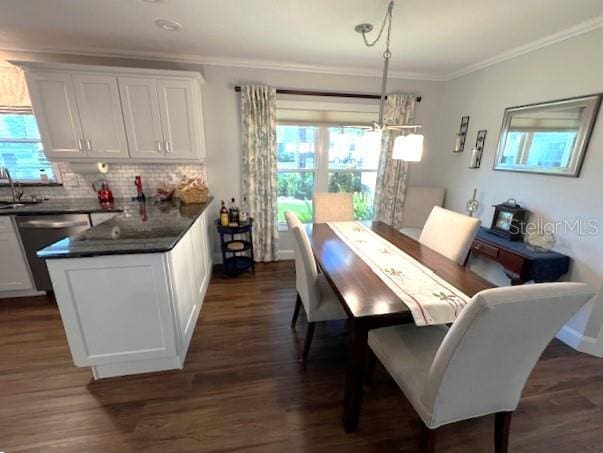
M576 131L510 131L501 163L564 168L576 140Z

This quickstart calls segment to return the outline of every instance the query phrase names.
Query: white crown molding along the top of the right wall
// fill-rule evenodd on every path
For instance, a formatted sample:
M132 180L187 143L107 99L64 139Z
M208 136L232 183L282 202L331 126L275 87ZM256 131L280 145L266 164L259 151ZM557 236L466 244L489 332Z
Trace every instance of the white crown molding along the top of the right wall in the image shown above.
M470 74L472 72L479 71L480 69L487 68L488 66L493 66L495 64L502 63L503 61L511 60L512 58L519 57L530 52L534 52L535 50L548 47L552 44L556 44L561 41L565 41L566 39L583 35L601 27L603 27L603 15L594 17L585 22L581 22L577 25L574 25L573 27L567 28L557 33L545 36L544 38L537 39L528 44L524 44L523 46L519 46L514 49L499 53L498 55L486 58L485 60L482 60L480 62L473 63L469 66L465 66L463 69L448 74L444 77L444 80L456 79L458 77Z

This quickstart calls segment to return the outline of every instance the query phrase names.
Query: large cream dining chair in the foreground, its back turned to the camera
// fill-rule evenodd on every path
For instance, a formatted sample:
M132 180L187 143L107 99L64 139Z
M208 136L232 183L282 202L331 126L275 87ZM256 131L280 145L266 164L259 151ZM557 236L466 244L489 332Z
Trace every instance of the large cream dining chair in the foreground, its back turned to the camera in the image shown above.
M496 414L495 451L503 453L530 372L593 295L584 283L489 289L473 297L450 329L385 327L371 330L368 343L423 420L425 451L433 451L436 428Z

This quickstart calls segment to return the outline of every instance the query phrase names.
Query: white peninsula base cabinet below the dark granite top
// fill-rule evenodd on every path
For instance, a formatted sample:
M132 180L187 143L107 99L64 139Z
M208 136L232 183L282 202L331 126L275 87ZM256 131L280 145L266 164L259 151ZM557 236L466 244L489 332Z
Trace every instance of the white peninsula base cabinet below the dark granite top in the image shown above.
M211 276L207 215L165 253L46 261L75 365L96 379L183 367Z

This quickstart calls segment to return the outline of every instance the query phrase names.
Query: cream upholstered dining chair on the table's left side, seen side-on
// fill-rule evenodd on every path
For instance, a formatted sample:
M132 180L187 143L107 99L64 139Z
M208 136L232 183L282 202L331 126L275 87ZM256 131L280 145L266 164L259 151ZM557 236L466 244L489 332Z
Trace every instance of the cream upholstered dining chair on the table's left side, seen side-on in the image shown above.
M297 289L291 327L295 327L299 311L303 306L308 320L304 350L301 356L301 361L305 362L312 345L316 323L346 319L347 316L325 276L318 273L310 240L303 224L290 211L285 212L285 219L294 239L295 287Z

